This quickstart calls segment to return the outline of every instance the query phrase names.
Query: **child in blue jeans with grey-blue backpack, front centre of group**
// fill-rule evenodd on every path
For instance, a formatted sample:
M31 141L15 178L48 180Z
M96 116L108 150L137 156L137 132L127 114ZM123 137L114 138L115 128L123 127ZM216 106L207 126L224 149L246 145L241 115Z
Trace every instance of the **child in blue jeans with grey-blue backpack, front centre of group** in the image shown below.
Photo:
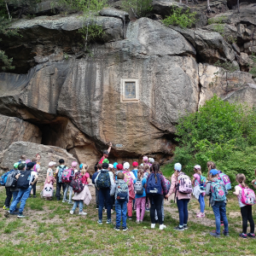
M113 230L120 230L121 218L123 231L128 230L126 226L126 213L127 213L127 201L129 198L129 189L127 183L124 181L124 173L119 172L117 175L117 181L111 189L111 195L115 197L115 211L116 211L116 224Z

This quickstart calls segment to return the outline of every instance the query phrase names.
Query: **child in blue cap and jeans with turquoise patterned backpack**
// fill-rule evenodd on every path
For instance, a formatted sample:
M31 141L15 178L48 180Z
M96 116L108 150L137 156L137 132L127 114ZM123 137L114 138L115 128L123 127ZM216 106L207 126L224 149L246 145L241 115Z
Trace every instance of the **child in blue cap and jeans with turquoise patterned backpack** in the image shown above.
M210 195L210 204L215 216L216 230L210 232L211 236L220 237L220 218L224 221L224 236L229 236L229 223L226 216L226 189L224 183L218 179L218 170L212 169L209 172L206 195Z

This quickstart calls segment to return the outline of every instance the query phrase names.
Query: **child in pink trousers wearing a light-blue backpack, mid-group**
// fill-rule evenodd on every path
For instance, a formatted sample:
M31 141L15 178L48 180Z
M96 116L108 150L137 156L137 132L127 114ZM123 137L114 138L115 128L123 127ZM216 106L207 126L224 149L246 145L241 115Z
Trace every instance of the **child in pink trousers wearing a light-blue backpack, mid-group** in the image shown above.
M147 183L147 179L143 177L143 170L138 171L137 179L134 180L134 190L135 190L135 202L136 202L136 215L137 220L136 223L143 223L143 218L145 214L146 207L146 191L145 184Z

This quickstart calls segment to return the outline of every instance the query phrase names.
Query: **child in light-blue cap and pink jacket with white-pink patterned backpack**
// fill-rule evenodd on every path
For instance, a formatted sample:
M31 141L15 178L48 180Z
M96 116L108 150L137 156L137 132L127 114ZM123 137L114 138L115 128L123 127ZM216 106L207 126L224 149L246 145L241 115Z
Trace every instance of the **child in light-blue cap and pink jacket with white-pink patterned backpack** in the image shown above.
M192 193L192 183L190 178L185 175L182 170L182 165L176 163L174 165L174 173L171 178L171 189L169 190L168 198L170 195L175 193L174 201L177 201L177 209L179 214L179 225L174 228L177 231L183 231L188 229L188 204Z

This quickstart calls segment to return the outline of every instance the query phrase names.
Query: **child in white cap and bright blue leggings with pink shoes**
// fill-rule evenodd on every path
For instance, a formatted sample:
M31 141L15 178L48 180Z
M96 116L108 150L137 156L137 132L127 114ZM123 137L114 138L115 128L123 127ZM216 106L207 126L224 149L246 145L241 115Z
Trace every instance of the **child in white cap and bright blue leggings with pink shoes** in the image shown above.
M200 210L201 212L198 212L196 214L196 218L205 218L205 199L204 195L206 195L205 191L200 189L200 183L201 183L201 166L196 165L194 167L194 175L192 179L192 184L194 185L193 195L195 195L195 198L199 201L200 204Z

